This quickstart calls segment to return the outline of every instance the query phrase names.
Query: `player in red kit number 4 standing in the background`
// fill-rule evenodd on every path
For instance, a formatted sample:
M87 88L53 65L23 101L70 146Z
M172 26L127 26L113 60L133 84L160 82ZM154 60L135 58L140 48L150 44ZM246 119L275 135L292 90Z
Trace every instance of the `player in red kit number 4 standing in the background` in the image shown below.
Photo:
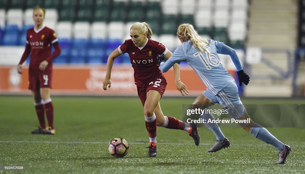
M55 32L43 25L45 10L36 7L33 11L34 28L27 31L27 44L18 64L17 71L22 74L22 63L30 55L29 89L34 97L34 105L40 127L32 134L55 134L53 126L53 104L50 98L52 88L52 60L61 53ZM55 51L51 55L52 45ZM30 54L31 53L31 54ZM45 124L45 114L48 127Z

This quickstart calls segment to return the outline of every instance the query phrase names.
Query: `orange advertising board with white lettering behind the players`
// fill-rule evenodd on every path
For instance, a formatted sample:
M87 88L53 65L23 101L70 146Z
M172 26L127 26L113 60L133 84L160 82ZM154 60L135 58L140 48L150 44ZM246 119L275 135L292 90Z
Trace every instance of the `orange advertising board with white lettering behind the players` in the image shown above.
M111 87L104 91L102 82L106 75L106 66L53 66L52 94L137 96L133 74L131 66L114 66L111 73ZM173 68L164 73L164 76L167 80L164 96L181 96L175 85ZM206 89L190 67L181 67L180 77L187 85L191 96L197 96ZM23 74L20 75L14 66L0 66L0 93L28 94L30 92L27 88L27 67L24 67Z

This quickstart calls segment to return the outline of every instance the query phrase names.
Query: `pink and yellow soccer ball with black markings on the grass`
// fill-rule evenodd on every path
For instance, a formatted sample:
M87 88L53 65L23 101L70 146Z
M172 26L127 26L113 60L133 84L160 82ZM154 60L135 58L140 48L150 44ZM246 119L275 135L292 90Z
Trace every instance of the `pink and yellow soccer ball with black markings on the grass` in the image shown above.
M108 145L109 153L116 158L122 158L127 155L129 144L124 138L114 138Z

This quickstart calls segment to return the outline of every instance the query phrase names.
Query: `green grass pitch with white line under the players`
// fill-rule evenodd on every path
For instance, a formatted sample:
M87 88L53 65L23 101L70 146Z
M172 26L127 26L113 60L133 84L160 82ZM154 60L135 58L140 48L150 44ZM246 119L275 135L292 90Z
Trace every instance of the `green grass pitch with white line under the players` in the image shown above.
M194 97L162 98L163 113L182 118L182 104ZM305 100L242 100L244 104L296 103ZM274 165L277 150L241 128L222 128L231 146L208 153L215 136L199 128L201 144L188 133L158 127L158 154L147 157L148 134L136 97L52 97L56 135L31 135L38 119L30 96L0 96L0 173L304 173L305 129L268 128L292 153ZM130 145L124 158L107 149L112 138ZM4 169L23 166L23 169Z

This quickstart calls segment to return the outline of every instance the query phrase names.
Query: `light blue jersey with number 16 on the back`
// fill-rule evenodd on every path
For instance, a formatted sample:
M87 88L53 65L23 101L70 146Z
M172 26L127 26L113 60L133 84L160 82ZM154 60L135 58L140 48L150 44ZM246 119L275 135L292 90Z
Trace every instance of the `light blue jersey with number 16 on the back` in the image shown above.
M190 40L179 45L169 60L161 66L161 71L166 72L174 63L187 62L206 87L216 95L235 80L223 67L218 56L218 53L222 54L224 43L210 39L208 42L210 53L199 52Z

